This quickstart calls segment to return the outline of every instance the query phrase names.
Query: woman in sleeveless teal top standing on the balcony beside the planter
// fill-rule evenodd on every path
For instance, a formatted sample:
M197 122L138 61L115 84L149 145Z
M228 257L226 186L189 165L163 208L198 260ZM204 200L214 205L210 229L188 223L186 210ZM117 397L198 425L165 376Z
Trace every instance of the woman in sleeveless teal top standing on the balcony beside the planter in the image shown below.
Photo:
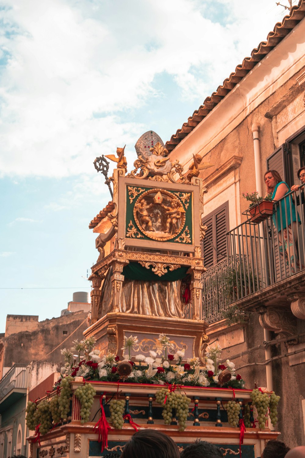
M266 183L266 195L272 194L273 201L282 199L280 205L277 206L276 213L273 213L273 223L278 230L278 240L281 244L279 251L283 255L283 246L285 247L285 258L287 264L289 265L289 263L291 263L291 268L294 272L295 264L300 268L298 252L296 249L298 223L300 223L300 217L295 210L292 198L287 196L283 199L286 194L289 194L290 189L287 183L282 180L277 170L268 170L265 173L264 179Z

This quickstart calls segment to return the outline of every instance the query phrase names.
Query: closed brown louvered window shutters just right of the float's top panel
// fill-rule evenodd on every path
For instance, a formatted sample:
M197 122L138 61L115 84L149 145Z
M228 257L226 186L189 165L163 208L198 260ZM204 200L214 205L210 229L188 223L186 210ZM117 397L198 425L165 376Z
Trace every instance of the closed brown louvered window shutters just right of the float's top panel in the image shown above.
M203 218L207 226L203 239L203 263L205 267L217 264L227 256L226 233L229 230L229 202Z

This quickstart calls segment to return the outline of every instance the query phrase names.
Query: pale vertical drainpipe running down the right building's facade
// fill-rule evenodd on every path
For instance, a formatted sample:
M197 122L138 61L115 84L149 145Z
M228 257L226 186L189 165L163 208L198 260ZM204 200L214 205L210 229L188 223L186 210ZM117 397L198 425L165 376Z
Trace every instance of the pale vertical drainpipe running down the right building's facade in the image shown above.
M257 122L252 124L252 133L253 133L253 145L254 145L254 164L255 164L255 181L256 181L256 189L259 196L264 195L262 191L262 171L261 171L261 151L259 146L259 124ZM260 233L263 234L263 224L260 223ZM263 240L261 241L261 245L263 245ZM261 247L262 253L262 265L265 266L265 252L263 247ZM264 282L265 279L265 269L263 268L262 272L262 281ZM264 328L264 340L268 342L270 340L270 331ZM265 359L269 360L271 358L271 346L269 345L268 348L265 349ZM267 378L267 389L268 391L273 391L273 381L272 381L272 363L268 363L266 365L266 378Z

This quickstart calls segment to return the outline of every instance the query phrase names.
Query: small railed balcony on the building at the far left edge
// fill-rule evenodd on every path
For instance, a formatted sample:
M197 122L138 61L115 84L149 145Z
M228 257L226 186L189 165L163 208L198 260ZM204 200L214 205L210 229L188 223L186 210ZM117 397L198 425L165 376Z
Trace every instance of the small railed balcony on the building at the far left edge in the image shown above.
M0 380L0 414L27 393L30 382L30 369L23 364L15 364Z

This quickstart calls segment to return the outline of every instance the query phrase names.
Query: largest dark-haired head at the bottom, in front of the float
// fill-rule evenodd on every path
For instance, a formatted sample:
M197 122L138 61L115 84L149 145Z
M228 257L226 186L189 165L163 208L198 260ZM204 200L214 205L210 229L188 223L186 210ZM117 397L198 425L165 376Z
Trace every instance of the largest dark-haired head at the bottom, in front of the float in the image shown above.
M121 458L180 458L177 445L160 431L147 429L136 432L123 448Z

